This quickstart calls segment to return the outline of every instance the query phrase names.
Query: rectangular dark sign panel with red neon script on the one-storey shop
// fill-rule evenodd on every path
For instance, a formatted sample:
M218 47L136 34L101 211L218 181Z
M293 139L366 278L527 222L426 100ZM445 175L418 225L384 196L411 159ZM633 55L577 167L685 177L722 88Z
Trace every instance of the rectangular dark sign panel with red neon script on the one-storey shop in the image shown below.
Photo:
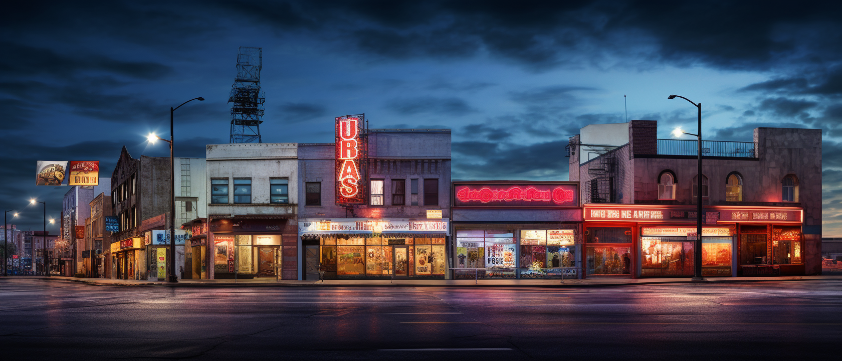
M482 184L454 185L454 206L563 207L578 206L576 184Z

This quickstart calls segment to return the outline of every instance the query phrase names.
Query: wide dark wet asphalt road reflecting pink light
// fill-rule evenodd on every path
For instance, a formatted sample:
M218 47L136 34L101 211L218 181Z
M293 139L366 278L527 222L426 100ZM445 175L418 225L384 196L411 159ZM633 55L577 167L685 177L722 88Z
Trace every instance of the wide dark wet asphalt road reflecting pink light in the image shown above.
M840 359L842 281L168 288L0 279L4 360Z

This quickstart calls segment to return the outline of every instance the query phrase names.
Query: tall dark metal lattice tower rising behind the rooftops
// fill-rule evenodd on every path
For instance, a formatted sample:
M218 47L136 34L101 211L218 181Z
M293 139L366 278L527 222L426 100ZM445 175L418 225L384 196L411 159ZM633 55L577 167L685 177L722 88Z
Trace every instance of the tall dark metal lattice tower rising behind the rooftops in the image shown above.
M263 48L240 46L237 77L228 97L231 105L231 143L263 143L260 117L264 115L264 93L260 93Z

